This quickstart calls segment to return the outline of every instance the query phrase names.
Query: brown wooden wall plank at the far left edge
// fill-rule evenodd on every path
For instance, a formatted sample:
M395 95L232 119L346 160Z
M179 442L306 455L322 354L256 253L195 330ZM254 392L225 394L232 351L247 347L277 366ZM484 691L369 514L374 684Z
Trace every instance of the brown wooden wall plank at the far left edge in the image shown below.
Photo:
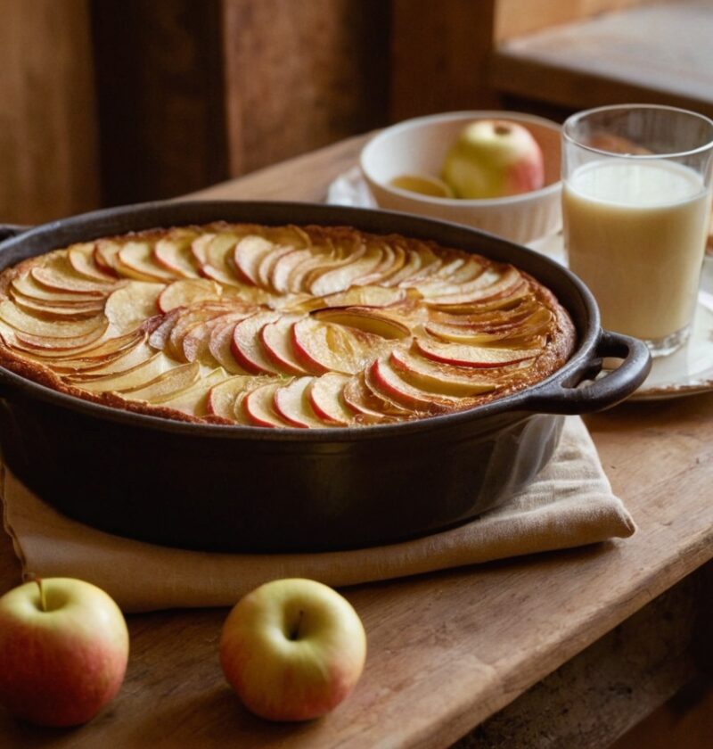
M0 0L0 220L99 203L87 0Z

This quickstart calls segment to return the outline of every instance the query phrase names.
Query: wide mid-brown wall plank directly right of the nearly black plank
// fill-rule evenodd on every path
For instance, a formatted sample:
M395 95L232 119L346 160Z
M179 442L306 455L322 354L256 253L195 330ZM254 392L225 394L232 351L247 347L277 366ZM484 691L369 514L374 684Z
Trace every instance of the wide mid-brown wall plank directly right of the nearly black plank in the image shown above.
M385 121L387 3L225 0L223 38L232 176Z

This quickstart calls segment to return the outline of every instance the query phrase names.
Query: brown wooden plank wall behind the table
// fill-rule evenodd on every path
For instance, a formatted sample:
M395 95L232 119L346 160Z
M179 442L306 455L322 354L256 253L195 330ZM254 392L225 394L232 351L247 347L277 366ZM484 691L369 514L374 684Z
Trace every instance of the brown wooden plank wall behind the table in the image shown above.
M499 41L646 2L0 0L0 223L170 198L398 119L497 108Z

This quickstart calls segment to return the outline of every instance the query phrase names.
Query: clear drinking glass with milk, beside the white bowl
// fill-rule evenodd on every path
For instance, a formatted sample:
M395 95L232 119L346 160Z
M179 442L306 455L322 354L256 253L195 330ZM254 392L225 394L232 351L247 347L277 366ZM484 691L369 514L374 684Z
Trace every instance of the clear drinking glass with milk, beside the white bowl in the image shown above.
M602 326L652 356L686 341L711 213L713 121L673 107L581 111L562 128L562 213L570 269Z

